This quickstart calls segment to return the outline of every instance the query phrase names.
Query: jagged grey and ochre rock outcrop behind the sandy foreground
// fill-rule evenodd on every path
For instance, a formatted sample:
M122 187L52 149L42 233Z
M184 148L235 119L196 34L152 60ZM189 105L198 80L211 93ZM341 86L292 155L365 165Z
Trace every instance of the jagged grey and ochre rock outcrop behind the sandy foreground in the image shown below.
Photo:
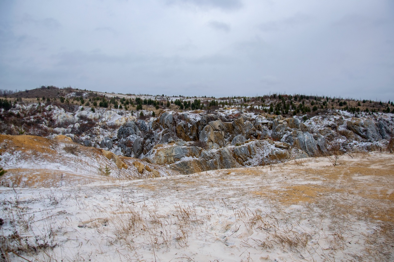
M117 115L112 113L106 116L114 117ZM100 147L113 148L119 154L181 173L195 173L312 157L329 153L327 146L337 138L344 145L350 141L377 143L390 137L391 132L387 119L375 123L367 118L316 116L302 122L297 117L284 119L259 114L241 114L230 119L201 111L194 115L164 111L156 119L126 122L119 127L116 137L102 139ZM70 128L76 129L75 125ZM88 137L84 145L95 146L93 142ZM379 147L363 146L366 150ZM149 170L147 165L144 168L139 165L139 169L147 177L155 176L154 169Z

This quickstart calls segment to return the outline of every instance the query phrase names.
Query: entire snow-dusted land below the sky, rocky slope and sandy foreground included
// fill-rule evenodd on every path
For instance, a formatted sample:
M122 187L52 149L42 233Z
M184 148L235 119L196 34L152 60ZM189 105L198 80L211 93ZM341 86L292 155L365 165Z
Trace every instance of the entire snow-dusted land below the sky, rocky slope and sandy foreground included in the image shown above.
M391 102L37 92L0 100L0 261L394 259Z

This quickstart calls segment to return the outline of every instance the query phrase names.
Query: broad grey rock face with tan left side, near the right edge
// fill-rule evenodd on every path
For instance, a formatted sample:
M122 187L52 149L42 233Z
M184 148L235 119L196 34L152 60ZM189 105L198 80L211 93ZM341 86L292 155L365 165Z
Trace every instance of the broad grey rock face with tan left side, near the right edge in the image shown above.
M365 118L351 118L346 122L349 130L353 131L368 142L375 142L382 139L373 121Z

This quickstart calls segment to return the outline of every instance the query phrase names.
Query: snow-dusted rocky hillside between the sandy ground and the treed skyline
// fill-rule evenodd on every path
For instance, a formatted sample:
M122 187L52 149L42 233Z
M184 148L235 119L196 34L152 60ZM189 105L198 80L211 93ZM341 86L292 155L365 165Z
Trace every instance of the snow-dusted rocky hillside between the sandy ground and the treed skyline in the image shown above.
M295 96L290 101L295 111L281 115L269 112L267 107L245 105L243 102L249 98L218 103L214 98L67 91L70 93L60 97L61 101L49 97L40 101L15 100L0 112L0 131L51 140L64 135L81 146L105 149L117 156L140 159L144 165L154 164L183 174L270 165L339 152L392 150L392 113L350 113L327 108L299 115L298 110L307 108L305 101L315 101L308 96L300 97L302 108L296 106L299 99ZM289 101L290 96L275 98ZM242 104L232 105L235 100ZM316 97L316 104L319 100ZM255 103L257 98L250 101ZM275 106L275 110L287 109ZM7 169L15 168L8 157L3 157L2 164ZM124 176L138 178L134 173Z

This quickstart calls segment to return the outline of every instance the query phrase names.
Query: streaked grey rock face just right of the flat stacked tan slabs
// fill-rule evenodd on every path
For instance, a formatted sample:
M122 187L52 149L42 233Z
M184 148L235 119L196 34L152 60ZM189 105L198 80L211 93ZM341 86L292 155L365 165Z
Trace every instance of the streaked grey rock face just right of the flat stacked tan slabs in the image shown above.
M295 148L302 149L309 156L314 156L319 152L316 140L314 140L312 134L309 132L294 130L284 139L284 141Z

